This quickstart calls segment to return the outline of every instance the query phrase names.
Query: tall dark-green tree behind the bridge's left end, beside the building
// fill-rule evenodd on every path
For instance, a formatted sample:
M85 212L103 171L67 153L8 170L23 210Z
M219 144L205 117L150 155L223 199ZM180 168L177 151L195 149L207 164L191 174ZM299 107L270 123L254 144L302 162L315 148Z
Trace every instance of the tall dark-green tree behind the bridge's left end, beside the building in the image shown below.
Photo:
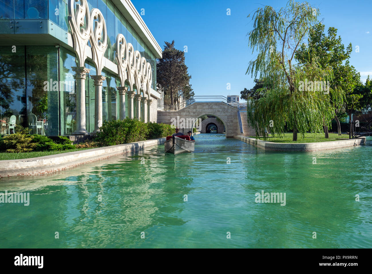
M179 103L180 95L192 96L191 76L185 65L185 52L174 48L174 40L164 43L163 58L156 65L157 86L164 91L164 101L169 98L169 104L174 105Z

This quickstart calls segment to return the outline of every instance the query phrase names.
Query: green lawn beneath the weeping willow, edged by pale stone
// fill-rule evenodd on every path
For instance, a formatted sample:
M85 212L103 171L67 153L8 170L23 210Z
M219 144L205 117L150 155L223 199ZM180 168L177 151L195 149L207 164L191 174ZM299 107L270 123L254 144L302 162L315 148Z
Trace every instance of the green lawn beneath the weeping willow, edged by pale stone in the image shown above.
M256 138L256 136L250 136L252 138ZM326 142L326 141L336 141L337 139L349 139L348 134L342 134L339 136L337 133L329 133L329 138L324 138L324 133L306 133L305 138L302 138L301 134L297 134L297 141L292 141L293 134L292 133L285 133L283 138L279 138L278 136L272 137L269 135L267 137L267 141L273 143L317 143L317 142ZM263 140L263 139L262 139Z

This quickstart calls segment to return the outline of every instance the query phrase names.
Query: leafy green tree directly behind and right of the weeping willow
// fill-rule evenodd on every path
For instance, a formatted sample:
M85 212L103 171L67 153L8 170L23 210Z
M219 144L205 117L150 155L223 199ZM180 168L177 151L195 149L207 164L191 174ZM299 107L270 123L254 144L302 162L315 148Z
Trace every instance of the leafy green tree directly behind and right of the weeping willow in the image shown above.
M308 43L303 43L295 53L295 58L301 62L311 62L314 57L319 58L319 63L322 67L330 66L333 70L333 80L330 82L330 103L334 106L334 118L337 121L339 135L341 135L340 122L337 118L337 111L343 105L345 98L345 86L349 85L347 81L350 79L343 75L343 62L349 60L352 52L352 44L350 43L346 50L341 42L341 36L337 37L337 29L334 27L328 28L328 35L324 33L324 25L318 23L309 31ZM324 118L323 118L324 120ZM324 135L328 138L328 125L331 121L324 121Z

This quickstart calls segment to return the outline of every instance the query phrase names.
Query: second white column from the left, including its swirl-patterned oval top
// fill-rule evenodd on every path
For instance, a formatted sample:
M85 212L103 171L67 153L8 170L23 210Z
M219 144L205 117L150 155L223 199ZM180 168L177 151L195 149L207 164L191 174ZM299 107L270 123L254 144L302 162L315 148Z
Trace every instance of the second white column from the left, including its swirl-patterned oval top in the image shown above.
M106 77L102 72L102 60L107 48L107 29L105 19L99 9L90 11L90 44L92 45L92 59L96 66L97 75L91 76L94 80L94 130L91 134L97 134L102 127L102 83Z

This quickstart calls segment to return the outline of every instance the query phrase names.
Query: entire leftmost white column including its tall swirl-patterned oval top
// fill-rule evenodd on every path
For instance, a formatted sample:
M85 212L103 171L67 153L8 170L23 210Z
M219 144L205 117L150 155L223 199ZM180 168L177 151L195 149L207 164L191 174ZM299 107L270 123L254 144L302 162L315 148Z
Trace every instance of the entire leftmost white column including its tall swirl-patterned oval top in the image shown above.
M76 90L76 131L73 135L87 135L85 118L85 78L89 69L84 67L87 58L86 46L90 38L90 14L87 0L80 0L80 4L74 3L76 0L68 0L68 23L74 39L74 51L76 53L77 66L72 67L75 71L77 82ZM85 24L84 24L85 22ZM84 28L85 26L85 28Z

